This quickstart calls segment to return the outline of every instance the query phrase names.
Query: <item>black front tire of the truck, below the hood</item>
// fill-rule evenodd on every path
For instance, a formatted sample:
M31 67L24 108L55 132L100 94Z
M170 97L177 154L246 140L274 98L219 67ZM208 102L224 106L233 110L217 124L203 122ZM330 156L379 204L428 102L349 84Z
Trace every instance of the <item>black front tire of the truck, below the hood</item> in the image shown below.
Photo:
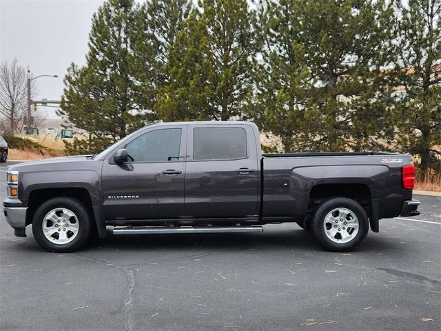
M63 214L61 210L65 210L68 213ZM63 228L63 221L61 221L61 223L50 221L50 218L46 217L50 212L58 213L56 217L59 218L59 221L63 218L67 219L67 223L64 223L67 224L66 228ZM74 216L71 216L71 213ZM50 225L50 228L57 226L59 232L61 232L61 230L65 231L65 234L63 234L65 236L68 236L70 233L73 234L71 234L70 238L65 239L68 241L67 243L57 243L61 238L57 238L57 232L53 232L52 236L50 236L51 240L48 239L48 234L43 233L43 222L45 222L45 226L53 223ZM71 228L68 228L69 224ZM74 227L76 227L77 230L72 232ZM83 203L73 198L60 197L45 201L45 203L37 209L32 219L32 234L34 234L35 240L41 247L49 252L66 253L79 250L88 241L91 233L92 218L90 217L90 213ZM60 234L58 234L58 236L60 236Z

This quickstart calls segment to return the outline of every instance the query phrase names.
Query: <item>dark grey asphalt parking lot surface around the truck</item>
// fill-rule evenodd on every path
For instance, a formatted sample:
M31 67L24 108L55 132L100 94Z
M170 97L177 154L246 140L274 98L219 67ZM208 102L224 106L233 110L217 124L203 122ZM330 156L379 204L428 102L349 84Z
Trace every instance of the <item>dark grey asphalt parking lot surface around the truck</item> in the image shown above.
M441 198L416 198L345 254L295 224L48 253L2 213L0 330L441 330Z

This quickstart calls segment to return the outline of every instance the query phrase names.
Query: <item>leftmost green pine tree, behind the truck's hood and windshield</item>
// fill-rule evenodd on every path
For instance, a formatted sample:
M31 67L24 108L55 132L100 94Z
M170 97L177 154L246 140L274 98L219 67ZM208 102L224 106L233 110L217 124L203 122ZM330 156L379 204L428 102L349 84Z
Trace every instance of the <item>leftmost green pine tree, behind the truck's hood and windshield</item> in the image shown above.
M76 141L79 150L101 150L149 118L134 94L136 11L132 0L106 1L92 18L85 66L68 68L59 114L88 132L89 141Z

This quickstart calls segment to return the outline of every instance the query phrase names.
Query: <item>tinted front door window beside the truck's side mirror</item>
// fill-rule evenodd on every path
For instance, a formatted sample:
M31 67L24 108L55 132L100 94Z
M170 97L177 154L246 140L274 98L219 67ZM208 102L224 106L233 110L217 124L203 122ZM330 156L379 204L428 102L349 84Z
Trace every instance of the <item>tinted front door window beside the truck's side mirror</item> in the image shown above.
M163 129L147 132L125 148L133 162L165 162L179 160L180 146L181 129Z

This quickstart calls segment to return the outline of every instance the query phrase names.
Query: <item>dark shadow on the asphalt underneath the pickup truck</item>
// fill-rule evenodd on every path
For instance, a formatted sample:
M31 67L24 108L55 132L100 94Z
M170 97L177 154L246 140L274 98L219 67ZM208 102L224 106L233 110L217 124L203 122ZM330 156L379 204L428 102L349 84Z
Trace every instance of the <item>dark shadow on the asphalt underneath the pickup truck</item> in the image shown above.
M355 252L372 252L386 250L402 250L402 245L389 241L385 237L376 237L378 234L370 233L365 241ZM9 247L19 249L17 246L26 245L28 252L45 252L34 241L31 233L27 239L11 237ZM20 248L22 249L22 248ZM208 252L232 250L271 250L283 252L294 250L303 253L326 252L314 239L311 233L300 228L276 229L275 227L264 230L263 233L236 233L236 234L145 234L139 236L116 236L108 231L105 239L92 239L79 252L106 252L119 250L121 252L161 252L171 251L197 251ZM331 253L330 254L339 254Z

